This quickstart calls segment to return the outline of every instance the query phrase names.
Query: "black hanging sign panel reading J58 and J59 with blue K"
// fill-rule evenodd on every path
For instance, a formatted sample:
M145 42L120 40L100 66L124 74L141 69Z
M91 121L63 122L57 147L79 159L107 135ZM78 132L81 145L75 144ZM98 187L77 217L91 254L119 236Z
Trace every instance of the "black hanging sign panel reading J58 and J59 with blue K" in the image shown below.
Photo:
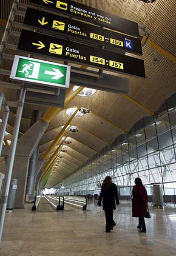
M67 35L80 41L105 46L112 51L124 51L142 55L139 39L124 34L108 31L94 25L88 25L76 20L71 20L58 15L28 8L24 24L30 27L50 30L58 35Z

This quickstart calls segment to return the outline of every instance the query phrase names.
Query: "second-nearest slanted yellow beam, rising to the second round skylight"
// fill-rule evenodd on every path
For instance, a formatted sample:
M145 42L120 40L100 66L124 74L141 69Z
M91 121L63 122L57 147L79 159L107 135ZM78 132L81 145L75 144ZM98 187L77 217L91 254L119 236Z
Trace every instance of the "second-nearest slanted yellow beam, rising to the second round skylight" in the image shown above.
M75 117L75 115L78 112L78 108L77 110L74 112L74 114L70 117L70 119L66 122L66 124L64 125L64 127L62 128L62 130L60 131L60 133L57 135L56 139L54 139L54 141L51 143L51 145L49 146L48 150L45 152L45 154L42 156L42 159L46 159L48 154L50 154L50 152L53 150L53 148L57 145L57 143L62 139L62 137L65 135L65 133L68 131L67 126L70 124L70 122L72 121L72 119ZM69 127L70 128L70 127Z

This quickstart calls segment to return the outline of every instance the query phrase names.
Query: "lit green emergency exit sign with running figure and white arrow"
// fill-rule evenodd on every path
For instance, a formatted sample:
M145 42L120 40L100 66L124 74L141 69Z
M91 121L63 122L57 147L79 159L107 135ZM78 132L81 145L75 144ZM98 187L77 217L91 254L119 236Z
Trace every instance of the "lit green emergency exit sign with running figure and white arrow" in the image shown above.
M34 44L42 48L41 42ZM70 66L15 55L11 79L69 88Z

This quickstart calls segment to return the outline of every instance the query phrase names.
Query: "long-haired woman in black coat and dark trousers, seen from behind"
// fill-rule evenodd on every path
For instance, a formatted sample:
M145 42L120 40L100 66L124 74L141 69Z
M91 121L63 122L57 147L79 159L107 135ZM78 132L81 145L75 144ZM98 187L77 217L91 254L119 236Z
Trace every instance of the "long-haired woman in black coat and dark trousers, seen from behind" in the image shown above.
M98 206L102 206L102 199L103 210L105 210L106 217L106 232L111 232L111 230L113 230L113 227L116 225L113 219L113 210L116 209L116 205L119 205L119 197L117 194L117 186L112 183L112 179L110 176L105 177L102 183L101 192L97 204Z

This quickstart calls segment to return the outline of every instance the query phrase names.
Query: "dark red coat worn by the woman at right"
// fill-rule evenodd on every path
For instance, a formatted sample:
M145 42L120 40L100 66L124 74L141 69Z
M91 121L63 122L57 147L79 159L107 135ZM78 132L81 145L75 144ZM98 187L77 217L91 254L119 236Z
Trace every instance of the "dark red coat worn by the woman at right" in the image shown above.
M132 213L133 217L145 217L147 213L148 196L143 185L133 187Z

